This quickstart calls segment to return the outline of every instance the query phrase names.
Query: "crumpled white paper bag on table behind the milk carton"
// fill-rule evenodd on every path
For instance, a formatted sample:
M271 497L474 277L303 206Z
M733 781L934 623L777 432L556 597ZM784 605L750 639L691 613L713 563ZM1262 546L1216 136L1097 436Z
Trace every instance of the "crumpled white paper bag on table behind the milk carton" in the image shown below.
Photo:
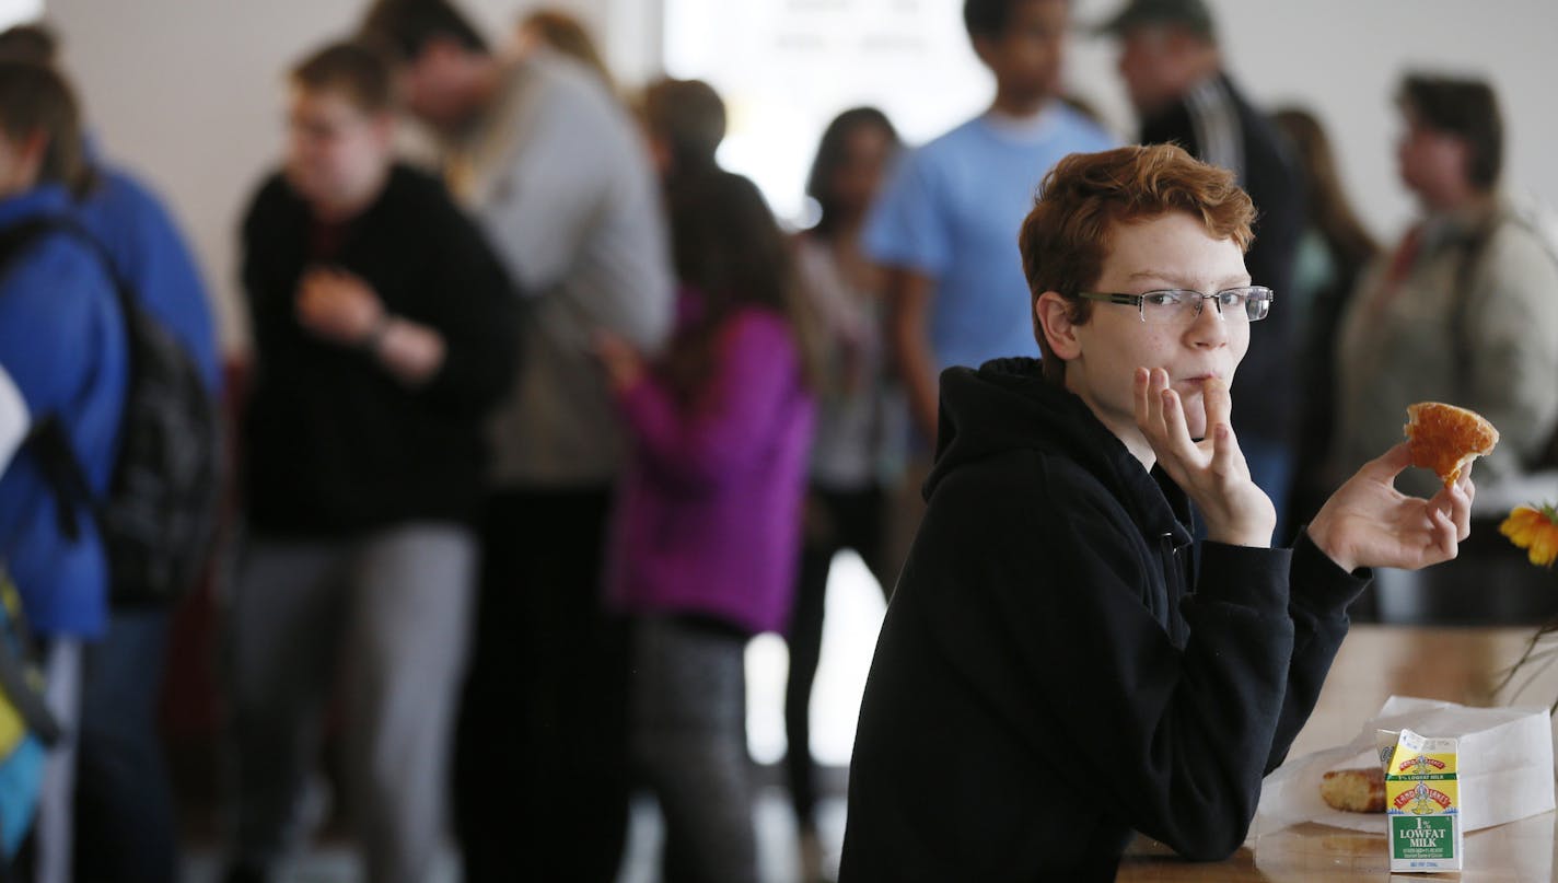
M1382 729L1460 740L1460 805L1466 832L1553 808L1553 730L1547 709L1469 709L1391 696L1351 743L1288 758L1267 776L1251 836L1299 822L1385 833L1384 813L1345 813L1320 799L1320 780L1327 771L1379 765L1374 730Z

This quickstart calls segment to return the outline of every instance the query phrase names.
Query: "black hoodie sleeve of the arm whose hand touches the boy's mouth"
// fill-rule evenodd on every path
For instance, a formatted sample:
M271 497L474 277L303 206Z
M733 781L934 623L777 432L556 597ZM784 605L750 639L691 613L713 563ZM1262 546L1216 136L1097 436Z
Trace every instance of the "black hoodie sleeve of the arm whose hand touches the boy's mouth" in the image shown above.
M1070 790L1187 858L1225 858L1245 839L1284 712L1292 553L1207 544L1176 648L1142 603L1161 567L1154 537L1095 481L1042 463L1022 461L1016 483L1011 469L963 469L936 491L916 548L983 554L939 562L949 579L932 579L958 592L927 593L930 629L994 718L1027 730L1027 763L1053 763Z

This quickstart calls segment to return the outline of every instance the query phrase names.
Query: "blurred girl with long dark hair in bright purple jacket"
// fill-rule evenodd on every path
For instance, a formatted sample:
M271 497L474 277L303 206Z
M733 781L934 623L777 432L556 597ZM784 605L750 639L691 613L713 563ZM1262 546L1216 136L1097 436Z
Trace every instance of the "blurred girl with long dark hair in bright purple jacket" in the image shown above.
M757 188L712 162L718 139L698 142L707 162L687 164L686 132L653 112L678 103L648 106L651 139L679 145L659 156L684 160L664 167L682 288L659 358L600 338L633 445L606 592L633 632L631 752L665 816L664 878L751 883L745 649L790 618L813 420L809 338Z

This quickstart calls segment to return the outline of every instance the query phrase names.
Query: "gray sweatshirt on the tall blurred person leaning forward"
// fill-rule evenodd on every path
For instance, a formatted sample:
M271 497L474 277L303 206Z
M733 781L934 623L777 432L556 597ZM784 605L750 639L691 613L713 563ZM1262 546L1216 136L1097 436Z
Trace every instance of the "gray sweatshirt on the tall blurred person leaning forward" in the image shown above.
M492 420L495 483L609 484L623 430L592 335L654 352L675 305L659 190L633 121L586 67L538 51L506 69L450 178L525 297L519 378Z

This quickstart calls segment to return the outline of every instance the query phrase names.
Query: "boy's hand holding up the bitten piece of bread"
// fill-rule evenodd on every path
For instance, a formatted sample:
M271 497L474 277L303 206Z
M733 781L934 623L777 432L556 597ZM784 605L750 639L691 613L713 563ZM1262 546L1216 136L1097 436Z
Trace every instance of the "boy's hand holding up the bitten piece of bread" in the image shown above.
M1309 539L1346 570L1416 570L1455 558L1460 540L1471 534L1471 501L1477 494L1471 466L1432 500L1396 491L1396 475L1408 466L1412 449L1405 441L1363 464L1320 508Z

